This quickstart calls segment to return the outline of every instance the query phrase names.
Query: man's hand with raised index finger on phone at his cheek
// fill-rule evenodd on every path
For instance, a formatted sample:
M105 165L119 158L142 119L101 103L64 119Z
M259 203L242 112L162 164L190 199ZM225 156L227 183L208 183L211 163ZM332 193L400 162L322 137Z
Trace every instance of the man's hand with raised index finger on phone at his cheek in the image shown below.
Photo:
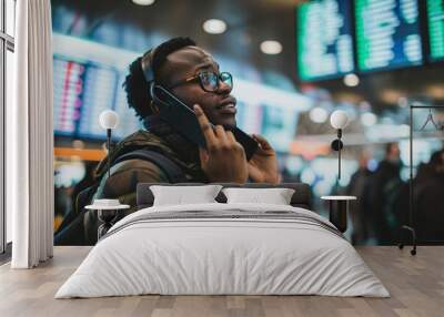
M199 149L201 167L211 182L245 183L249 177L245 152L231 131L222 125L213 130L202 109L194 112L206 141L206 150Z

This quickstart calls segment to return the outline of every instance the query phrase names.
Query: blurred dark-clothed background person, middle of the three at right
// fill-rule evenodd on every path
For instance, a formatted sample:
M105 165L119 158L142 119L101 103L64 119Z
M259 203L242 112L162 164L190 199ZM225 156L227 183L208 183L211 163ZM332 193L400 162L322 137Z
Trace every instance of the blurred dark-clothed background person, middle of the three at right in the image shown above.
M379 245L393 244L401 225L396 213L403 188L400 154L397 143L386 144L384 160L369 180L366 204Z

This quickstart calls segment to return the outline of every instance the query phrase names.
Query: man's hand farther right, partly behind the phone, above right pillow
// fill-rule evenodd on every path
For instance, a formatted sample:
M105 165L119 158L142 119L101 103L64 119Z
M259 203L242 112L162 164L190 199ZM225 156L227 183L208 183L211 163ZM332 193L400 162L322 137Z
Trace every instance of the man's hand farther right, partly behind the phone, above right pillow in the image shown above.
M253 134L252 137L259 143L259 147L248 163L250 177L255 183L278 184L280 175L276 153L263 136Z

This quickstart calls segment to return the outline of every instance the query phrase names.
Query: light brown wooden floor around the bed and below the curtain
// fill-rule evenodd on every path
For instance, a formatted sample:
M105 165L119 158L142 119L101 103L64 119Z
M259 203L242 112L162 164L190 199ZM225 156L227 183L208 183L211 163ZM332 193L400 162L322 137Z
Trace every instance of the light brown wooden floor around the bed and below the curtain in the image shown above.
M53 299L89 247L56 247L36 269L0 267L0 316L444 316L444 246L357 247L392 297L134 296Z

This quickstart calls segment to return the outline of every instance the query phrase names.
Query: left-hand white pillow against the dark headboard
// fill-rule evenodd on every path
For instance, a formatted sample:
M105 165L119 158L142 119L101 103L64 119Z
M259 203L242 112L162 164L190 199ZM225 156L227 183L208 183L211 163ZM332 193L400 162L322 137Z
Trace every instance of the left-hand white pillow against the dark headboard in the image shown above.
M216 203L221 185L202 186L150 186L154 195L153 206Z

